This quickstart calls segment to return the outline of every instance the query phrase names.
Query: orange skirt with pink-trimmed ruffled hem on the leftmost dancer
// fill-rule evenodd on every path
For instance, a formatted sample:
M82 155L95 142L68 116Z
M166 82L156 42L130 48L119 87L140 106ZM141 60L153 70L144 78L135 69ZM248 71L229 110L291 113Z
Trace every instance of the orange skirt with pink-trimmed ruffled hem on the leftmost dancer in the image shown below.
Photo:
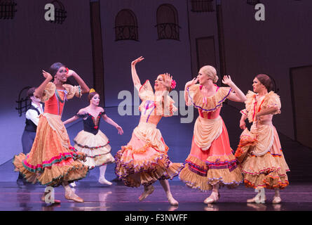
M15 171L27 181L39 181L44 186L60 186L62 181L76 181L88 173L88 167L79 160L83 153L70 146L69 136L59 115L40 116L32 150L13 158Z

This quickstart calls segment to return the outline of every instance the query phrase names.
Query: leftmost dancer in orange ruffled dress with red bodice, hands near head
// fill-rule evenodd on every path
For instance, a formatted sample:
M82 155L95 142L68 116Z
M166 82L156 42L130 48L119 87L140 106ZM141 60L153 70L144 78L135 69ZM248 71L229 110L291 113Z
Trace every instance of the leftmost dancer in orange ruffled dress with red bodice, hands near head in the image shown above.
M54 81L50 82L54 76ZM79 86L65 84L68 77L74 77ZM50 66L50 73L43 70L46 79L34 91L34 96L45 102L43 115L40 116L36 138L30 153L15 155L15 171L21 172L29 182L43 186L64 186L65 198L83 203L83 199L72 191L68 182L82 179L88 173L88 167L79 162L84 158L70 146L69 136L61 121L65 102L81 94L88 93L89 88L83 79L73 70L68 70L62 63ZM45 193L41 200L45 200ZM60 203L55 200L55 203Z

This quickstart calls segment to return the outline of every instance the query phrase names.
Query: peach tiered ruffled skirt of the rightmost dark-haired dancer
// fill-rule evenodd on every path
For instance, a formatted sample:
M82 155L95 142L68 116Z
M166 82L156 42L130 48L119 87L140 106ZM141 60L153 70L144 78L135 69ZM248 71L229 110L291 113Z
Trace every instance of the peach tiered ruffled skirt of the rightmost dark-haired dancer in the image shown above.
M289 185L285 161L278 133L273 125L252 125L240 136L236 157L244 175L246 187L280 188Z

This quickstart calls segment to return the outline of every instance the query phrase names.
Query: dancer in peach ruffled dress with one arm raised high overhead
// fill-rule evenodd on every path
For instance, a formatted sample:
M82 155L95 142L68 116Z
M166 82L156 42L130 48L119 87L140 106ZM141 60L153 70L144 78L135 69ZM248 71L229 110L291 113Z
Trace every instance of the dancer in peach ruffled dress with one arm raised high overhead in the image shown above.
M183 165L172 163L168 158L168 146L161 136L156 125L161 117L170 117L177 110L168 91L175 87L175 82L168 73L158 75L155 80L155 93L147 80L143 85L137 75L135 65L144 60L141 56L131 63L133 84L142 100L140 105L140 122L133 131L132 138L127 146L122 146L115 155L116 175L126 186L144 186L140 195L142 201L154 191L154 182L159 180L171 205L178 205L172 197L168 179L179 174Z

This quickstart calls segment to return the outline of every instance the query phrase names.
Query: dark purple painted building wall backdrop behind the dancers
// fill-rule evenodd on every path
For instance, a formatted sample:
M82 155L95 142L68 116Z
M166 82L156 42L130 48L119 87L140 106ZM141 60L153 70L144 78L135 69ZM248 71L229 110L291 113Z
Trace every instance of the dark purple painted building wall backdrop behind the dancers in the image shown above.
M44 6L51 1L15 2L18 4L15 18L0 20L0 141L3 148L0 165L22 150L20 138L25 115L18 117L15 101L23 87L38 86L43 81L42 69L60 61L76 70L90 87L94 85L90 1L62 0L67 11L62 25L44 20ZM120 91L133 93L130 62L139 56L145 57L137 65L141 82L150 79L152 86L158 74L170 72L177 80L176 89L182 91L185 82L197 75L203 63L214 65L220 73L217 4L221 4L226 74L231 75L245 93L251 89L255 75L271 75L282 101L282 114L273 122L278 131L295 139L290 70L312 65L312 1L261 0L265 6L264 21L255 20L257 10L247 4L247 0L209 1L210 12L196 11L194 2L100 0L106 107L118 106L122 101L118 99ZM157 11L163 5L176 13L178 40L158 40ZM116 20L121 11L134 15L136 41L116 41L116 21L129 22ZM172 20L166 13L160 18ZM306 82L301 83L300 89L308 90L311 77L306 75ZM220 81L218 84L221 85ZM305 102L307 110L311 110L311 98ZM86 96L82 101L76 99L66 104L64 120L86 106ZM229 104L237 113L243 108L242 103ZM304 129L309 132L311 125L311 117L307 117Z

